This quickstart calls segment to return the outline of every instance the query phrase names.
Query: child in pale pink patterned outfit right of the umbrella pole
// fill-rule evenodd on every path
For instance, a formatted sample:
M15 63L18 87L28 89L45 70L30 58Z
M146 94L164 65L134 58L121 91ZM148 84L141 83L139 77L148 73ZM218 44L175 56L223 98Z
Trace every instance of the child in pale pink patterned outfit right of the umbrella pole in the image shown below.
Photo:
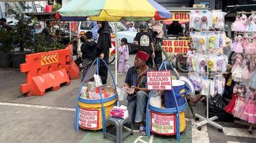
M118 51L120 54L119 64L118 64L118 72L122 74L122 72L127 72L129 69L129 46L127 45L127 39L121 39L121 46L119 47Z

